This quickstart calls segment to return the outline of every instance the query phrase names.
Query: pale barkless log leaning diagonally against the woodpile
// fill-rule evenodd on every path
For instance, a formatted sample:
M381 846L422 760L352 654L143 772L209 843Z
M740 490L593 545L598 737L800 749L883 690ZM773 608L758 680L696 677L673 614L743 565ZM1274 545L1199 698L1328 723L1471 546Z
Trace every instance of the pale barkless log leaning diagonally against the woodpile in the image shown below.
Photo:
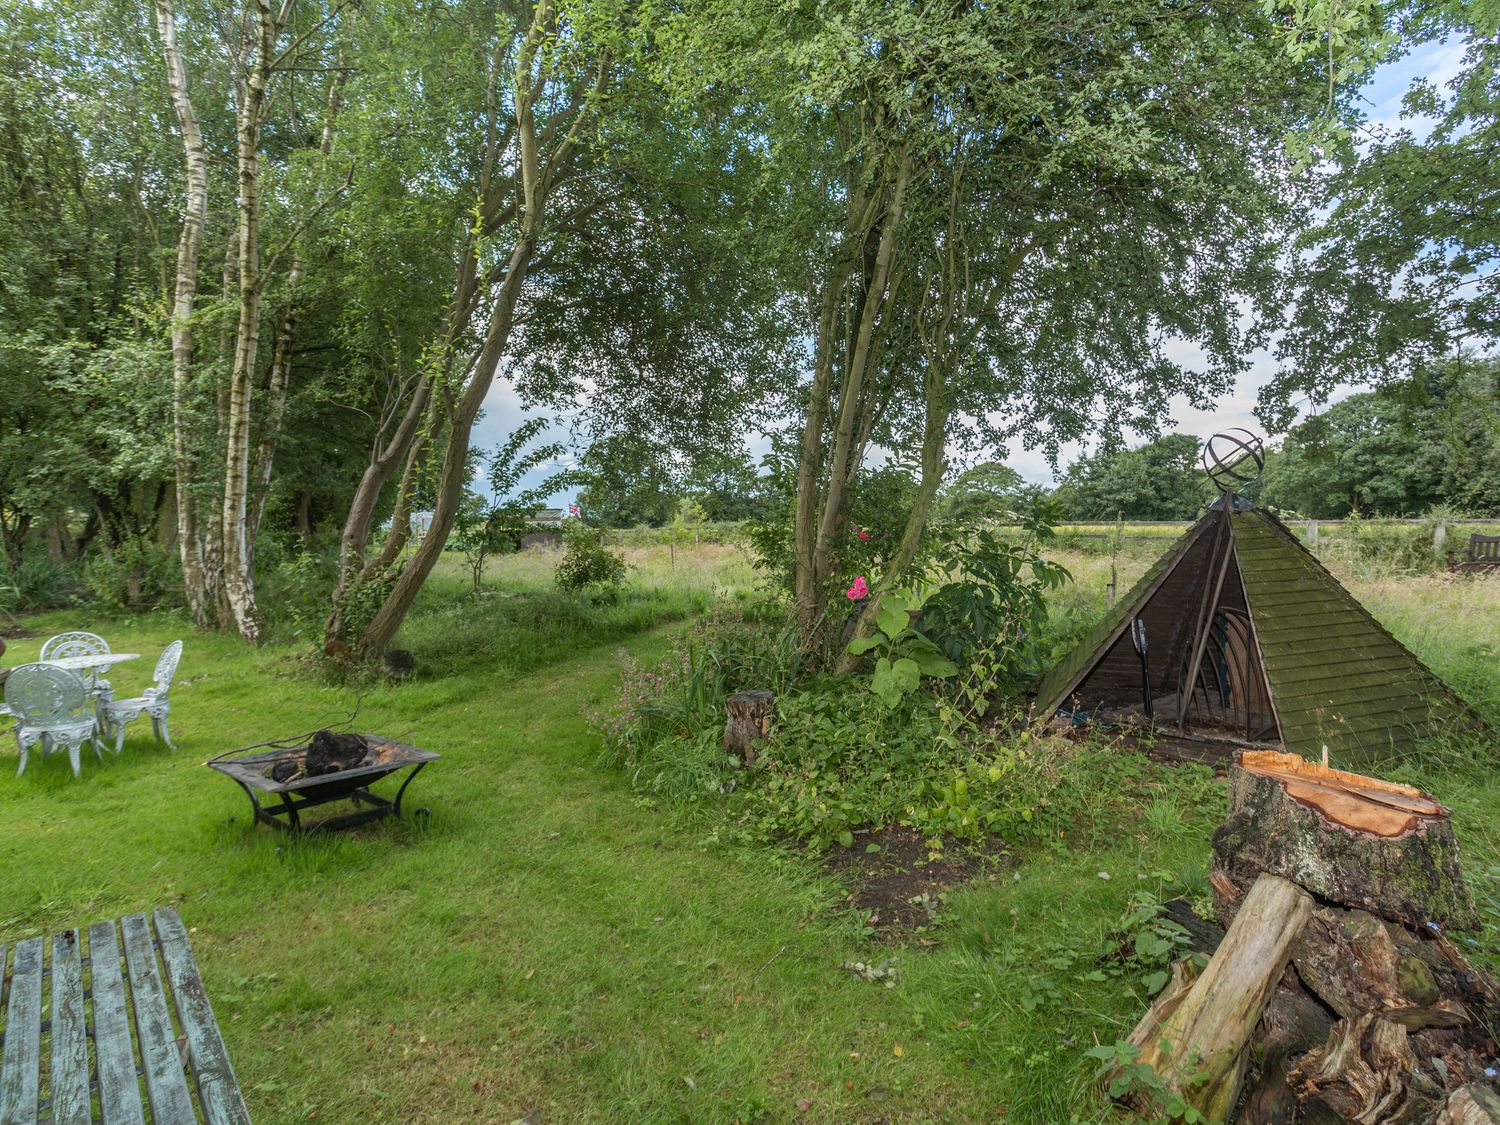
M1174 980L1131 1035L1138 1062L1209 1120L1227 1120L1239 1100L1251 1035L1311 912L1312 897L1300 886L1258 876L1203 974L1180 994ZM1144 1096L1131 1104L1160 1113Z

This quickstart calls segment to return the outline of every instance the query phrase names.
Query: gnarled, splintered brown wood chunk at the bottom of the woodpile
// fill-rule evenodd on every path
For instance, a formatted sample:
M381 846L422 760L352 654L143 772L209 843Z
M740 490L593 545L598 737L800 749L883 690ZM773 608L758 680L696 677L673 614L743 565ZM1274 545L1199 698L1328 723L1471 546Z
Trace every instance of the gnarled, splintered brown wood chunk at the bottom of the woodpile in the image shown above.
M1422 1066L1400 1023L1365 1012L1340 1020L1328 1042L1292 1066L1287 1083L1358 1125L1414 1125L1443 1102L1438 1074Z

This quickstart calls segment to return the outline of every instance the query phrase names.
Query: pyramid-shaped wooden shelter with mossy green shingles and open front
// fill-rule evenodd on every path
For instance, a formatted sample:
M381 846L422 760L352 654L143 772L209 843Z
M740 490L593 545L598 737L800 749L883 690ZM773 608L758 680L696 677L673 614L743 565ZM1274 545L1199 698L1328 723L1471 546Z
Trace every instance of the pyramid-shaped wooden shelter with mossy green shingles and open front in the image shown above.
M1227 492L1042 680L1040 720L1144 718L1341 762L1479 722L1286 524L1240 506Z

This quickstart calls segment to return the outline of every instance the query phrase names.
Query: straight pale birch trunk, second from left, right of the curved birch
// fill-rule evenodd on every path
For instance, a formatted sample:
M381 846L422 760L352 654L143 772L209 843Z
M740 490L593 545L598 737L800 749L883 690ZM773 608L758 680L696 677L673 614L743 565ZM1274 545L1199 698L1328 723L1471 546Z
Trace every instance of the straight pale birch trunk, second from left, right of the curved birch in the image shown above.
M237 120L240 224L240 320L234 342L234 368L230 370L230 411L225 428L224 465L224 591L234 627L240 636L258 644L262 636L260 608L255 604L255 578L250 572L249 477L250 477L250 392L255 358L261 339L261 294L266 284L260 262L260 148L266 116L266 88L272 76L278 14L268 0L255 0L256 45L244 99Z

